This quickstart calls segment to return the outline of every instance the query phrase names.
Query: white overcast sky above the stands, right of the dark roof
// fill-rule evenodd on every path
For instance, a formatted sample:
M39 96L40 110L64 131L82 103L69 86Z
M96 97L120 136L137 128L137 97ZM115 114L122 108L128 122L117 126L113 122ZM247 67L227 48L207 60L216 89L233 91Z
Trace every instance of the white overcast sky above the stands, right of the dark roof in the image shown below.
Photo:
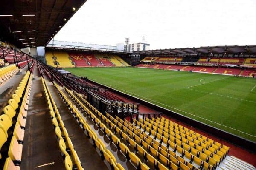
M256 45L256 0L87 0L55 40L151 49Z

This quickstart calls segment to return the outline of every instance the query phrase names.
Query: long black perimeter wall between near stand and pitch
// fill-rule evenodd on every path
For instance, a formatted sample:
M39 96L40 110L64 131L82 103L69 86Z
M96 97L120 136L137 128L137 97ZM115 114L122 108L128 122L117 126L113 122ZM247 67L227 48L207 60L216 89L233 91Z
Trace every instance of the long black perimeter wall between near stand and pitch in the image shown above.
M149 108L152 108L156 111L162 112L164 115L169 116L170 118L175 118L177 120L180 120L180 121L182 121L182 122L184 122L184 123L186 123L190 126L192 125L193 127L198 128L198 129L200 129L200 130L202 130L206 133L210 133L211 135L214 135L217 138L221 138L221 139L223 139L227 142L238 145L239 147L242 147L242 148L244 148L244 149L246 149L250 152L256 153L256 143L255 142L252 142L248 139L244 139L242 137L239 137L239 136L236 136L234 134L228 133L228 132L226 132L224 130L221 130L221 129L218 129L216 127L207 125L203 122L199 122L199 121L197 121L195 119L192 119L192 118L189 118L187 116L183 116L183 115L181 115L177 112L171 111L169 109L166 109L166 108L160 107L158 105L155 105L153 103L147 102L143 99L139 99L137 97L131 96L131 95L126 94L126 93L123 93L123 92L118 91L116 89L113 89L113 88L110 88L108 86L102 85L98 82L94 82L93 80L90 80L90 79L87 79L87 80L89 82L92 82L92 83L98 85L98 86L101 86L102 88L106 88L108 90L114 91L116 94L125 96L126 98L131 99L134 102L143 104L143 105L148 106Z

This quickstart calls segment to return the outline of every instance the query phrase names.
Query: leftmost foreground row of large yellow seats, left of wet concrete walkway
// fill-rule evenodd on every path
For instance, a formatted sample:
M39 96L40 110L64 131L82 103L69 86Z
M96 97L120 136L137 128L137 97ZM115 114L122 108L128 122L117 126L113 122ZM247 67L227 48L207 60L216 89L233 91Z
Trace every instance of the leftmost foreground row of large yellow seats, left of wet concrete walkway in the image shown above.
M0 159L6 158L3 170L20 169L32 78L27 71L0 116Z

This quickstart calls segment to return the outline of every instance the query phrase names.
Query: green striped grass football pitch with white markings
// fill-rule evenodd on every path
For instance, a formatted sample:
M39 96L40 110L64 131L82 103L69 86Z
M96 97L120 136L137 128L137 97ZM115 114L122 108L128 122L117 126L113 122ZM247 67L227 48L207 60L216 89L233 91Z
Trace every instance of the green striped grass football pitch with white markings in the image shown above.
M67 68L256 142L256 79L150 68Z

